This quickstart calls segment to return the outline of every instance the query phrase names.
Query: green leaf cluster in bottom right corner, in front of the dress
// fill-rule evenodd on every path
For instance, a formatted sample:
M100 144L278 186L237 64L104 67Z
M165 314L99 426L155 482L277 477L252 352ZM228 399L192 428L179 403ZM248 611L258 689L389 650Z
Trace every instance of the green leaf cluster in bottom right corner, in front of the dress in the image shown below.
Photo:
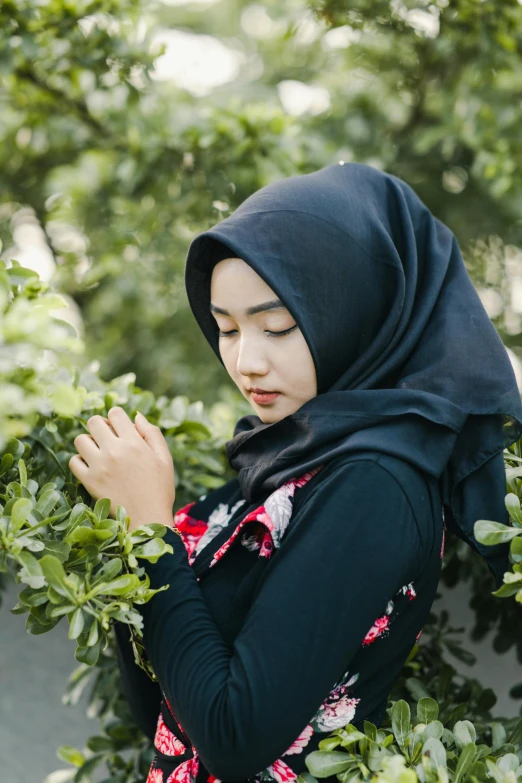
M434 699L422 698L412 721L409 704L393 702L380 728L348 724L321 740L305 759L300 783L335 775L342 783L514 783L522 777L522 719L508 735L491 724L489 744L469 720L442 721Z

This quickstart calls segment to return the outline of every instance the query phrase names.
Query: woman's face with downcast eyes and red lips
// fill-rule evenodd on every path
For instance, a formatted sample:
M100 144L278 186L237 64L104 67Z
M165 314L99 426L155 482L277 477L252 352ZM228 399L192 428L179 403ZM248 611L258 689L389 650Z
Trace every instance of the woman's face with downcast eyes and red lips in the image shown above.
M280 421L316 396L306 340L282 303L267 307L277 295L252 267L241 258L219 261L212 271L210 299L225 368L263 423ZM252 387L279 394L264 402Z

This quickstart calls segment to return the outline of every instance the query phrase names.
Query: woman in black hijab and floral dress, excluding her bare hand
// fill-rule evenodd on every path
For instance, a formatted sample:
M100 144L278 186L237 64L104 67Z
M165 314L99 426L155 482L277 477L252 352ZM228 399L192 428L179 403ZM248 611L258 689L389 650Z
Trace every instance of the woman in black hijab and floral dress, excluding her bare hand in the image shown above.
M193 240L185 279L255 413L227 444L237 476L143 561L170 585L141 607L159 684L118 624L124 689L154 741L148 783L291 781L333 729L382 721L444 516L500 583L507 547L473 524L508 521L520 395L454 235L370 166L262 188Z

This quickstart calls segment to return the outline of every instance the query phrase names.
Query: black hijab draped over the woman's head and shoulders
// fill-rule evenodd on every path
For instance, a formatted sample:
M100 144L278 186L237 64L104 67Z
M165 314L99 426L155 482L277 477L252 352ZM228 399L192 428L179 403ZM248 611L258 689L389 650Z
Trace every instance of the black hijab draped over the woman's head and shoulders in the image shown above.
M486 559L497 585L507 545L503 449L522 434L507 351L454 234L403 180L339 163L274 182L192 241L185 284L212 349L214 265L234 256L284 302L312 354L317 396L278 422L255 414L226 444L248 502L341 454L375 450L439 480L447 526Z

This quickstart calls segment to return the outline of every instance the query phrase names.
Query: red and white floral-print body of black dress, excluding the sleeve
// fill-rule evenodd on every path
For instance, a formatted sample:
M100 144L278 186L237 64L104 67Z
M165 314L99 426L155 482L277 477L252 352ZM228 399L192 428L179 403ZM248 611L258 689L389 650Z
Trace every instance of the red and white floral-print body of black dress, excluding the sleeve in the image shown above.
M367 462L365 467L368 468L369 465L370 469L373 469L375 461ZM394 468L396 471L396 466ZM323 466L319 466L288 481L259 505L250 504L249 507L240 496L237 482L232 481L226 487L220 488L221 492L220 490L211 492L209 495L199 498L197 502L189 503L180 509L175 515L175 524L183 536L188 564L197 574L197 583L200 588L202 589L205 583L210 581L212 573L217 575L216 566L218 563L221 563L222 575L226 571L227 558L230 558L229 568L232 568L232 553L235 553L236 558L243 558L245 562L245 558L250 558L248 568L251 570L256 562L258 568L261 568L261 565L264 568L272 558L279 556L278 550L283 551L285 547L290 547L291 538L288 537L287 543L285 534L289 527L292 528L294 504L301 496L304 498L306 486L317 476L315 482L312 482L307 490L308 498L312 496L312 485L315 484L317 487L318 474L322 469ZM382 471L383 468L379 466L379 470ZM328 473L330 481L332 481L331 468ZM396 472L393 479L395 481L397 479ZM404 481L404 476L402 476L402 482L404 483ZM225 499L222 499L223 497ZM411 503L411 498L408 502ZM305 510L306 502L302 502L301 515ZM389 514L389 508L386 510ZM440 508L439 511L441 511ZM417 519L415 524L417 525L415 535L419 536ZM346 668L341 676L324 694L324 698L313 714L308 716L306 722L303 721L301 730L296 732L294 740L284 752L279 753L278 758L273 759L271 763L256 770L253 774L246 775L245 781L249 781L249 783L274 783L274 781L287 783L287 781L296 780L300 772L307 770L304 763L306 755L316 750L319 741L334 729L351 722L362 726L364 720L371 720L379 725L384 715L389 690L408 652L421 635L422 624L435 595L444 546L442 516L436 522L432 519L431 529L429 556L424 564L425 567L419 568L418 561L410 564L410 571L417 578L404 581L392 594L383 595L382 611L367 623L364 633L360 635L357 652L351 654L346 660ZM410 535L409 529L408 535ZM176 548L176 539L178 542L180 539L170 531L167 536L167 540L172 541ZM179 543L177 547L179 548ZM426 547L424 550L426 551ZM246 555L246 553L249 554ZM162 559L166 560L168 557L166 555L164 558L160 558L158 564ZM198 563L199 568L197 567ZM429 567L426 567L426 564ZM364 563L361 565L364 567ZM243 567L243 579L245 573L248 575L245 568ZM167 583L172 578L165 573L160 578L152 566L149 566L147 570L151 574L155 574L152 578L152 581L156 580L154 586ZM397 578L401 572L406 571L407 569L404 569L402 565L397 565ZM167 576L169 576L168 579ZM256 581L256 589L258 587L259 581ZM214 592L212 591L209 595ZM421 599L419 599L419 595L421 595ZM255 600L255 591L251 593L250 599ZM248 604L249 602L247 602L245 609L245 617L248 616ZM209 605L212 608L212 602ZM151 614L147 614L149 610L151 607L147 606L145 609L146 624L147 618L151 617ZM216 608L216 616L218 614ZM362 627L364 628L364 626ZM233 652L234 634L229 638L228 643L230 651ZM152 652L152 642L149 641L148 644L149 648L147 649ZM155 665L155 671L158 673L153 655L151 655L151 659ZM156 660L159 659L156 658ZM193 716L187 712L184 705L181 705L181 709L178 710L173 703L176 700L176 687L174 686L167 695L165 692L167 688L163 688L160 673L158 673L158 678L161 683L161 708L153 740L155 755L146 783L221 783L221 781L226 783L226 777L218 777L217 775L221 765L216 761L218 766L215 769L212 769L210 764L210 768L207 768L202 757L211 758L212 754L209 754L208 750L205 752L203 747L200 752L197 742L191 740L190 730L185 728L181 709L185 708L189 721L193 720ZM273 698L276 699L276 694L273 695ZM298 705L296 705L297 708ZM290 710L289 714L291 713ZM266 726L265 731L269 732L270 726ZM260 742L263 741L263 733L261 733ZM225 763L225 771L227 769L228 766ZM235 772L234 779L237 780Z

